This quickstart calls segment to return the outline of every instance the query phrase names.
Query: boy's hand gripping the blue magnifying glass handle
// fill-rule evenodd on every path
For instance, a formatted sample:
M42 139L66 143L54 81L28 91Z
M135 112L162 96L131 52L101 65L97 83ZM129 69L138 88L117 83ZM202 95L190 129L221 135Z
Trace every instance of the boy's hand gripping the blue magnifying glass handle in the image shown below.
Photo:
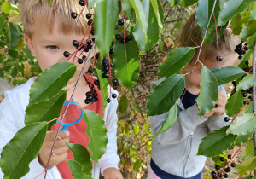
M53 145L53 142L55 141L55 136L57 134L57 129L51 132L48 132L46 134L46 137L44 139L43 146L38 154L38 161L40 165L43 167L46 167L48 159L49 159L49 153L51 151L51 147ZM55 141L55 148L54 153L51 156L51 159L49 161L49 165L57 165L61 161L67 158L67 144L65 142L69 142L69 132L68 131L61 131L59 134L59 138ZM61 139L60 139L61 137Z

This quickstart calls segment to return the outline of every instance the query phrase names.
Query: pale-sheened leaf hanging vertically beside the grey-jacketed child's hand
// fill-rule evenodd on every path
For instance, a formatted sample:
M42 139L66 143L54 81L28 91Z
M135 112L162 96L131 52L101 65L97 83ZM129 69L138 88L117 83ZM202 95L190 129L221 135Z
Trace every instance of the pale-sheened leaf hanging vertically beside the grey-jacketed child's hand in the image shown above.
M215 106L218 99L218 84L217 79L206 66L202 66L201 72L201 90L196 101L200 109L198 115L203 116Z

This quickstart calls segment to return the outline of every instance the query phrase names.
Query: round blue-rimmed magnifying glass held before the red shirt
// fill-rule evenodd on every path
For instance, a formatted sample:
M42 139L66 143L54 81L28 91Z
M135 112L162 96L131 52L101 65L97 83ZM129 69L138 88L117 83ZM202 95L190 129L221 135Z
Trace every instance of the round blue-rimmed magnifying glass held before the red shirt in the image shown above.
M68 104L68 101L65 101L63 104L63 109L61 110L61 115L66 110L67 107L65 106L67 106L67 104ZM81 118L83 118L83 116L84 116L83 109L79 107L79 103L71 101L67 109L67 113L63 118L63 123L61 123L61 121L59 120L57 120L57 123L63 126L61 131L67 130L67 126L77 124L81 120Z

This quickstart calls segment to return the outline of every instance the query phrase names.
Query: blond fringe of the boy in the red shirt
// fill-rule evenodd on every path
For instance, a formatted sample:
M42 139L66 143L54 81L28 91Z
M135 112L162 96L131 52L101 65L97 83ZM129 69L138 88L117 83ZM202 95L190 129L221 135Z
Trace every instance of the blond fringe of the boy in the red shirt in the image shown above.
M81 15L79 13L82 12ZM76 20L71 17L71 13L78 14ZM24 26L24 33L32 38L33 24L35 20L46 20L50 32L53 23L57 19L59 22L59 31L64 34L75 32L84 34L89 27L87 24L86 14L89 10L86 6L79 5L78 0L51 0L49 5L47 0L20 0L20 14ZM90 10L90 13L92 11Z

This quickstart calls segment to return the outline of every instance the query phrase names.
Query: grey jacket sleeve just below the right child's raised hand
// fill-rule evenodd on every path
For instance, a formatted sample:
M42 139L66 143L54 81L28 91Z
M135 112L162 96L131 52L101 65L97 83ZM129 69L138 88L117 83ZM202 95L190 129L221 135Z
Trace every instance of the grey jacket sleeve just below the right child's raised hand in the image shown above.
M224 90L223 86L220 86L218 88L218 90L222 91L224 93L224 95L227 97L226 91ZM218 129L230 124L229 122L224 122L224 117L227 117L226 113L224 113L222 115L213 114L212 116L209 117L209 119L207 120L207 126L208 126L210 132L212 132L213 130L218 130Z

